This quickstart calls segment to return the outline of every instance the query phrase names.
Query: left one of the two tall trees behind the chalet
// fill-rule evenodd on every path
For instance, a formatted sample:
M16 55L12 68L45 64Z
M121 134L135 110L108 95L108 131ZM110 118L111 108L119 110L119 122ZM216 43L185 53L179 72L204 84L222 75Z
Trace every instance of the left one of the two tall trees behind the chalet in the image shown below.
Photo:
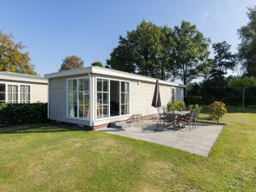
M113 49L107 67L150 77L160 74L160 78L166 80L173 47L170 28L142 21L136 30L119 37L119 45Z

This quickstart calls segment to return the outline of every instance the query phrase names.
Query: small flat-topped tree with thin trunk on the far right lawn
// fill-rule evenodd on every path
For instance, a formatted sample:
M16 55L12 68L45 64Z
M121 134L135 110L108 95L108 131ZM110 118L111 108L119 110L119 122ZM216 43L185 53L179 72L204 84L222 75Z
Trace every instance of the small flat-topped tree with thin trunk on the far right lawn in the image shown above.
M236 77L229 82L229 87L241 87L242 88L242 111L245 108L245 92L248 87L256 87L256 78L254 77Z

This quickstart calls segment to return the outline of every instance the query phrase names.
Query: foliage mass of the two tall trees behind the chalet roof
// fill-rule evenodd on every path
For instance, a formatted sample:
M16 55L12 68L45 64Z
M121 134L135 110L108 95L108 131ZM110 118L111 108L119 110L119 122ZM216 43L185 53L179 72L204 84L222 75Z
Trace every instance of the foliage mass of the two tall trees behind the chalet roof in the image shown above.
M210 39L182 21L174 29L142 21L113 49L107 67L155 77L181 79L184 84L208 72Z

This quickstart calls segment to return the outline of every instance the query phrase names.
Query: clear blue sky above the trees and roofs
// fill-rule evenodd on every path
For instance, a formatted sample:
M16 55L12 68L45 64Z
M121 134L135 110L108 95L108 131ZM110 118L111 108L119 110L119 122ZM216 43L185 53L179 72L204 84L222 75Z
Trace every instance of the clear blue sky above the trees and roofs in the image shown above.
M143 20L168 27L190 21L212 43L226 40L235 52L237 29L253 5L256 0L0 0L0 30L23 42L35 71L45 75L70 55L85 66L106 63L119 35Z

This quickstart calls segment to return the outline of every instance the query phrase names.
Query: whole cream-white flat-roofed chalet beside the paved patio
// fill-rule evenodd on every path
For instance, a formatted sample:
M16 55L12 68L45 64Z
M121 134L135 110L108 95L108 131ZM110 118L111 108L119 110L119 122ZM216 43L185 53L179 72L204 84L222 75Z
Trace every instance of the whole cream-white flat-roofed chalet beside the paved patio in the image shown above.
M88 67L45 75L49 80L48 117L93 127L122 121L131 114L154 115L156 79L113 69ZM184 85L159 81L162 105L183 101Z

